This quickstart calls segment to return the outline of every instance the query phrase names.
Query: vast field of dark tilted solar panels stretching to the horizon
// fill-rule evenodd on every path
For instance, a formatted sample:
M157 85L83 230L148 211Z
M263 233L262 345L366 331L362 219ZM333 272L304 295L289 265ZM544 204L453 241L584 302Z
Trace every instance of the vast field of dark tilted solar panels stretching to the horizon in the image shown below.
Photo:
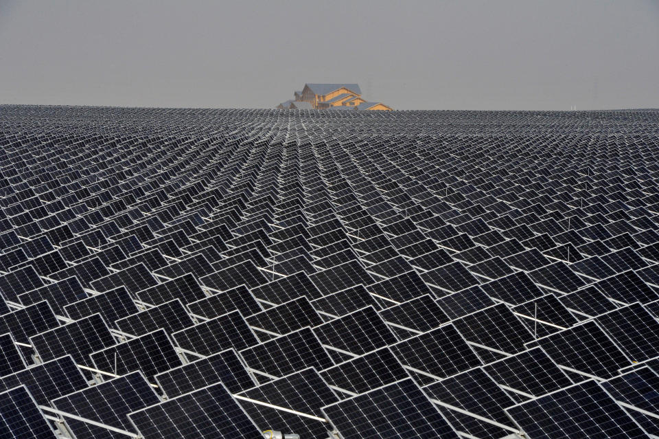
M0 106L0 436L659 437L657 126Z

